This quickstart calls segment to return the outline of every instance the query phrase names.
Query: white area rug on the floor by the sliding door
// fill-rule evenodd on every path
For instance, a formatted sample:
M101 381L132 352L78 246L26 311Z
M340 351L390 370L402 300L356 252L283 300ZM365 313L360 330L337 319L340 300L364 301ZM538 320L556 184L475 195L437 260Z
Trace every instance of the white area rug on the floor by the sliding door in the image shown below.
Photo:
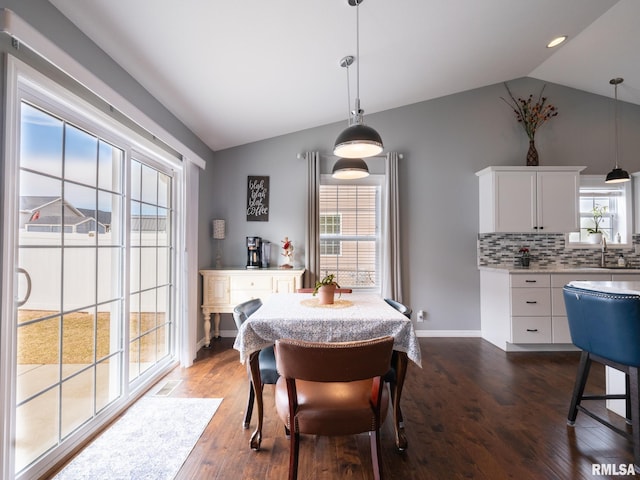
M221 402L147 395L54 479L173 479Z

